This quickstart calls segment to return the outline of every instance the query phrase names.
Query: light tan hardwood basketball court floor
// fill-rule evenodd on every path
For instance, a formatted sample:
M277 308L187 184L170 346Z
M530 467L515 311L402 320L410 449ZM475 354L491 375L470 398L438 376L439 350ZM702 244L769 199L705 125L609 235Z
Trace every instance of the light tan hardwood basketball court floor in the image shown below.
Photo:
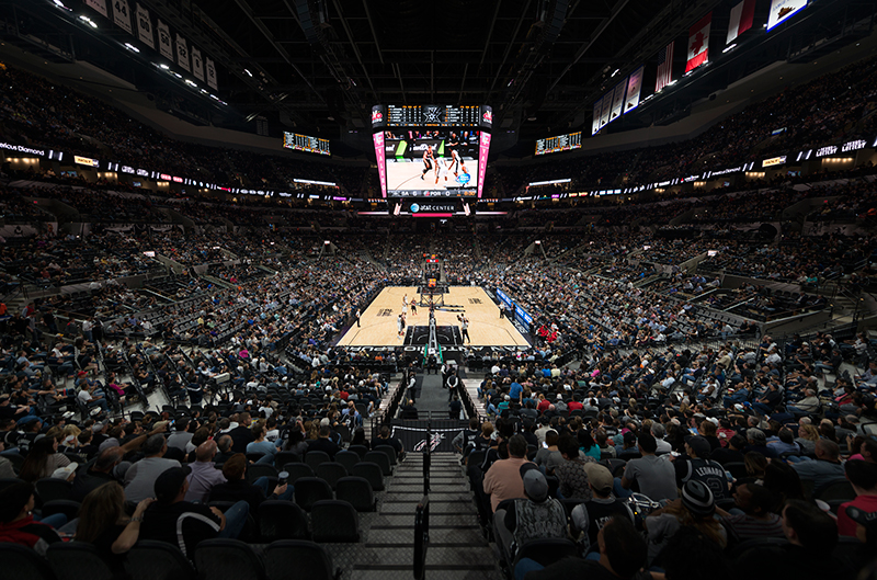
M362 316L362 328L354 325L338 341L340 346L397 346L402 339L397 334L397 317L402 311L402 297L408 295L420 302L420 295L413 286L388 286L368 305ZM445 294L446 306L458 306L469 319L469 337L472 346L528 346L514 325L500 318L500 310L480 286L451 286ZM435 311L437 326L459 326L458 312ZM426 308L418 307L417 316L411 309L406 312L406 325L429 326L430 316ZM467 342L466 345L469 345Z

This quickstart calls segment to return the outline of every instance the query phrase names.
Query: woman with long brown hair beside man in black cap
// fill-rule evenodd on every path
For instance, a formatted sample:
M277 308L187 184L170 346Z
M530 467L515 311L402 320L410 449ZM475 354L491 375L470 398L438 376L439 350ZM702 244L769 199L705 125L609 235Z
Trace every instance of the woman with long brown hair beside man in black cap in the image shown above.
M125 515L125 490L116 481L93 489L79 509L76 541L93 544L113 570L114 578L125 578L125 554L140 536L144 512L155 501L147 498L137 504L134 515Z

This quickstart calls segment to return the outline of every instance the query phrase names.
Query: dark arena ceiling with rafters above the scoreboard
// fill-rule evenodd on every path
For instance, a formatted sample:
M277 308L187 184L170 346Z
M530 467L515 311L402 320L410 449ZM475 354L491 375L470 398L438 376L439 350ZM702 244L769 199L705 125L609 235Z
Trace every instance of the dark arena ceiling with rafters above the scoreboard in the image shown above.
M693 102L777 60L805 61L873 26L875 2L810 0L765 34L755 26L722 54L739 0L143 0L192 47L215 60L218 89L185 86L157 50L98 15L86 0L0 1L2 36L53 61L87 60L197 124L277 136L297 130L346 144L368 129L373 104L489 104L501 144L532 151L533 139L590 135L591 109L645 65L653 92L658 52L676 42L685 67L688 27L713 11L710 66L679 79L605 130L667 124ZM112 5L112 2L110 2ZM129 0L132 10L135 2ZM82 14L96 23L83 25ZM681 41L681 42L680 42ZM143 48L139 52L125 43ZM216 93L216 94L208 94ZM342 146L343 149L343 146Z

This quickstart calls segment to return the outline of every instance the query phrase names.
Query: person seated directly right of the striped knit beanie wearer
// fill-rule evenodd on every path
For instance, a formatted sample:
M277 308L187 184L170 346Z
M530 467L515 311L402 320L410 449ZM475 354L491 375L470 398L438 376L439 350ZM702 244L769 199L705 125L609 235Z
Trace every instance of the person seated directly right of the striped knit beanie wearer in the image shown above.
M733 493L734 505L743 513L718 509L729 537L744 542L760 537L783 537L783 522L773 513L779 501L772 491L756 484L740 484Z

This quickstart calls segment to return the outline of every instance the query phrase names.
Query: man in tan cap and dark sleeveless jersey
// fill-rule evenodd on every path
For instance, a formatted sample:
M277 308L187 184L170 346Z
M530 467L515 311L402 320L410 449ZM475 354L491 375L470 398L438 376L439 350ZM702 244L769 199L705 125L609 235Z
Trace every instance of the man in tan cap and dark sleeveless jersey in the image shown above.
M636 523L627 503L612 493L615 480L612 473L597 463L584 466L592 498L572 509L569 531L582 548L582 554L596 550L600 531L615 516L626 518Z

